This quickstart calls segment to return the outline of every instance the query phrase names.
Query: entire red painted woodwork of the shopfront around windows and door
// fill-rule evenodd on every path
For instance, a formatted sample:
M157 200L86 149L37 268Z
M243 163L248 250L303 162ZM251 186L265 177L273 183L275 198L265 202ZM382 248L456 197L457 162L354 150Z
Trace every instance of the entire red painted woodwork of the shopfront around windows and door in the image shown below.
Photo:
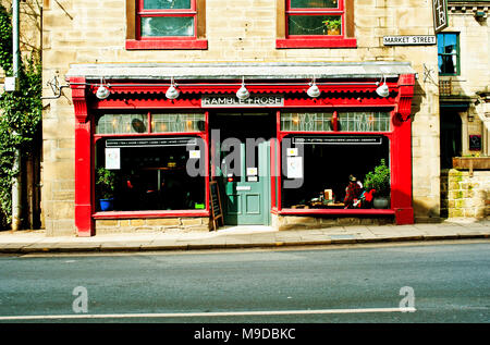
M95 234L94 219L125 219L125 218L166 218L166 217L208 217L209 215L209 178L206 178L206 210L177 211L136 211L136 212L95 212L94 192L94 143L101 137L111 135L94 135L93 110L151 110L151 109L201 109L203 94L236 93L240 81L223 83L221 81L175 81L181 96L169 100L164 93L170 81L161 83L107 81L111 95L105 100L95 98L98 81L93 84L84 77L70 78L72 98L75 110L75 225L78 236ZM304 83L303 83L304 82ZM411 104L415 76L401 75L396 82L389 82L390 96L382 98L376 95L376 82L366 79L351 81L318 81L321 90L319 98L306 96L310 81L261 82L245 81L252 94L283 95L284 106L277 108L277 138L271 140L271 200L272 211L277 214L394 214L397 224L414 222L412 206L412 124L409 121ZM281 140L290 134L308 134L307 132L281 132L280 113L287 109L384 109L391 110L392 131L385 133L345 133L328 132L315 134L382 134L390 139L390 168L392 172L391 209L389 210L329 210L329 209L282 209L281 205ZM226 108L222 110L225 111ZM260 109L260 108L255 108ZM336 113L336 112L335 112ZM215 143L210 143L209 113L206 111L205 132L192 133L205 139L206 171L209 167L209 148L213 151ZM146 136L175 135L176 133L146 133ZM313 133L309 133L313 134ZM191 135L185 133L185 135ZM132 136L117 135L117 136ZM133 135L134 136L134 135ZM137 136L140 136L138 134ZM278 195L275 195L278 188Z

